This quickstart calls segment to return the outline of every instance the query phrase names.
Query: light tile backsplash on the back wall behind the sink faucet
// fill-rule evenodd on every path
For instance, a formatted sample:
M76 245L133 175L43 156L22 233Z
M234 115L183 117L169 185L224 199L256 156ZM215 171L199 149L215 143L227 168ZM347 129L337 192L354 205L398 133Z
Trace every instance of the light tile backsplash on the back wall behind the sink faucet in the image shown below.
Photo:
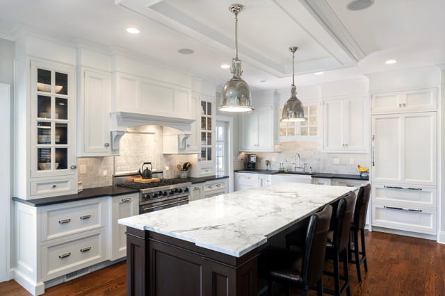
M266 160L270 161L269 169L278 170L280 163L286 163L289 170L293 170L293 163L298 165L298 156L300 154L300 165L307 163L307 170L312 167L312 172L334 173L334 174L359 174L357 165L369 167L371 163L370 154L334 154L321 151L321 143L293 141L282 142L276 145L280 152L252 153L257 155L257 169L266 170ZM240 156L245 160L247 153ZM273 159L276 161L273 161ZM334 164L334 160L339 160L339 164ZM351 160L353 165L351 165ZM243 163L243 161L241 161Z

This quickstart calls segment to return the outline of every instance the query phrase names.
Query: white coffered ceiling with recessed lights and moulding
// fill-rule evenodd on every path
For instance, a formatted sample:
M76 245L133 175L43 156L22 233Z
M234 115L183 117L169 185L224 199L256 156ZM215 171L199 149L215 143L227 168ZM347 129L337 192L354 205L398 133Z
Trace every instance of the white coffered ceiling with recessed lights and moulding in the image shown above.
M364 73L445 63L445 1L241 0L238 49L252 90L286 88L291 53L296 83L354 79ZM0 37L22 28L122 47L214 81L227 81L235 55L234 15L227 0L0 0ZM140 30L130 35L128 27ZM193 54L179 54L193 49ZM385 60L398 60L385 65ZM323 71L323 75L314 72ZM261 82L263 81L263 82Z

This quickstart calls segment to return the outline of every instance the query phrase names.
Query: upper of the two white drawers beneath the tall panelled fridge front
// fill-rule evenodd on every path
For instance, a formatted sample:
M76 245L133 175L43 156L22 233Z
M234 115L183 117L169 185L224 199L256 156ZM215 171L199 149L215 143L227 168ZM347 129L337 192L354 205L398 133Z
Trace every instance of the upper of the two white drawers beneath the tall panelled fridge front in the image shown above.
M437 208L437 189L424 186L398 186L373 183L373 202L378 204L396 204L403 207Z

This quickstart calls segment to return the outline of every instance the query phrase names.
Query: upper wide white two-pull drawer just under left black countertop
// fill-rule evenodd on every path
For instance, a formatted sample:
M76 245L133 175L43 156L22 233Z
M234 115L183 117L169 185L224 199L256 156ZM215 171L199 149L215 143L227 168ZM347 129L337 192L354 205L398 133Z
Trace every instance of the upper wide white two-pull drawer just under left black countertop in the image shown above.
M104 227L105 206L105 198L99 198L44 207L40 215L42 242Z

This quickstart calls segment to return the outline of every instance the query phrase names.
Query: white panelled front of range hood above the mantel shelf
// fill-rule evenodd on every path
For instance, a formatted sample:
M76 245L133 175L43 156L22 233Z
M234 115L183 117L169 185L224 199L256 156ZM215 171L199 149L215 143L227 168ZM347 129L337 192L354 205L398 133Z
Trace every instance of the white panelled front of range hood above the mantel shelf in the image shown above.
M120 72L115 83L113 112L195 119L190 88Z

